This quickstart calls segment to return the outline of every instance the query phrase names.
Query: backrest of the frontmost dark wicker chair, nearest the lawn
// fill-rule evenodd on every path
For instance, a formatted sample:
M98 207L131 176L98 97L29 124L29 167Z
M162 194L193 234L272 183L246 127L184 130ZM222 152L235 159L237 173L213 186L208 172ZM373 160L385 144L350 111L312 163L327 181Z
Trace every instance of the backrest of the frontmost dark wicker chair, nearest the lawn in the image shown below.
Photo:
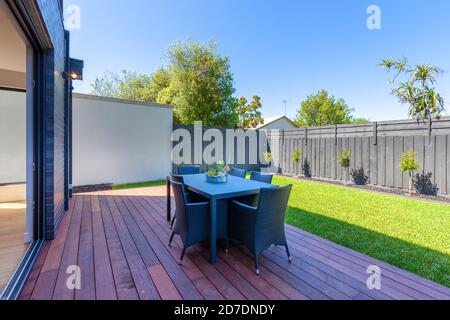
M292 185L264 188L259 194L257 224L283 228Z

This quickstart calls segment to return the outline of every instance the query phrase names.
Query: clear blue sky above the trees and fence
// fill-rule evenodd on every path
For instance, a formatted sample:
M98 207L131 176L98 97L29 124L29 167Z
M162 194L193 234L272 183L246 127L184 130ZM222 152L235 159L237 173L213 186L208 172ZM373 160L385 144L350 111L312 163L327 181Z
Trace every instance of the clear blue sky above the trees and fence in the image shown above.
M81 29L71 54L85 60L78 92L105 71L152 73L165 65L176 40L214 40L231 58L236 96L261 96L263 115L293 117L307 95L324 88L344 98L355 115L407 118L390 96L382 58L407 57L448 73L439 89L450 106L448 0L66 0L79 5ZM369 5L382 29L366 27Z

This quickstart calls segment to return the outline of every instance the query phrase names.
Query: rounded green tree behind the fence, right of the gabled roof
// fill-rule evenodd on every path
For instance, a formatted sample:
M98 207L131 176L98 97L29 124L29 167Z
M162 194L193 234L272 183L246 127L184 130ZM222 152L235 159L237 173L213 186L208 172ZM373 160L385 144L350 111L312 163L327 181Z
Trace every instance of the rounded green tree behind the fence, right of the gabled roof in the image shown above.
M319 127L354 123L351 109L343 99L329 96L326 90L310 95L302 102L295 123L300 127ZM357 123L367 123L366 119L356 119Z

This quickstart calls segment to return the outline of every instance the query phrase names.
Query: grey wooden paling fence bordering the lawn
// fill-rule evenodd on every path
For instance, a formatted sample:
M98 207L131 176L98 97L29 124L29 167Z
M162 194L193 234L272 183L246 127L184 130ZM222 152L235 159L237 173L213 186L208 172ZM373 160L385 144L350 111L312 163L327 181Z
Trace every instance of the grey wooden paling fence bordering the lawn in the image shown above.
M193 133L192 126L177 126ZM205 128L206 130L208 128ZM225 129L219 129L225 134ZM408 188L408 176L399 163L402 153L416 151L420 172L431 172L439 193L450 194L450 118L433 121L386 121L362 125L315 127L293 130L270 130L266 146L258 139L258 150L266 148L274 155L274 163L282 173L301 174L307 160L315 178L350 180L339 166L344 150L352 153L350 168L363 168L370 184ZM205 148L209 143L204 143ZM224 148L226 148L224 146ZM247 145L248 148L248 145ZM293 152L302 153L302 161L293 160ZM248 160L248 150L246 151ZM201 163L204 170L207 165ZM258 170L258 165L240 164L238 167ZM347 175L347 177L345 177Z

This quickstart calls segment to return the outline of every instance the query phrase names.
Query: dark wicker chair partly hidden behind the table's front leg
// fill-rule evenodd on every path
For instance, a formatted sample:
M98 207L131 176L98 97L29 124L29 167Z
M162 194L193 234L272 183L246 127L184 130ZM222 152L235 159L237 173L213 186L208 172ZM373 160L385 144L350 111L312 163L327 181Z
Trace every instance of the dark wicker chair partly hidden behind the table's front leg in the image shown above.
M190 246L207 241L209 239L209 202L189 203L186 198L184 185L175 181L170 182L175 195L177 206L177 219L169 246L172 245L175 235L179 235L183 242L183 252L180 264L183 261L186 249ZM226 203L223 203L226 204ZM227 206L217 206L217 239L225 240L225 251L228 252L228 231L227 231Z

